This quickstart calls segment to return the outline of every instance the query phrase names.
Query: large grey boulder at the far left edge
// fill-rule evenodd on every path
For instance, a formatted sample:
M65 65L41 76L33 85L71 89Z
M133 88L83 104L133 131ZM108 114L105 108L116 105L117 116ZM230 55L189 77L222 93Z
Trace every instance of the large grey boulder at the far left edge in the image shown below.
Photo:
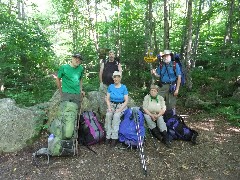
M26 147L39 134L43 115L37 108L20 108L12 99L0 99L0 153Z

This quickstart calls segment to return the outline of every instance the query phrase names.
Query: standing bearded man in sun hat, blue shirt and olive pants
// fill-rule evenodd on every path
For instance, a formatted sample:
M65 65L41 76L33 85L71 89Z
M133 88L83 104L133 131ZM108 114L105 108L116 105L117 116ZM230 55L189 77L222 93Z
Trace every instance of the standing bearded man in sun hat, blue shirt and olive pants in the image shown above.
M164 97L167 110L172 109L175 113L177 95L181 84L181 70L177 63L174 70L170 50L164 50L162 58L163 62L160 63L157 70L152 70L152 74L159 78L162 86L159 94Z

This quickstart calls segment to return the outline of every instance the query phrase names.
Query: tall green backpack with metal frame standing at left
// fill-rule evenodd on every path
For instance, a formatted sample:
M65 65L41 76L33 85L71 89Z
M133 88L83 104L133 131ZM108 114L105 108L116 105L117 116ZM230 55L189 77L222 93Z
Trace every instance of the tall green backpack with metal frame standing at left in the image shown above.
M77 154L77 114L78 105L73 102L61 102L56 118L50 124L48 137L48 147L41 148L33 153L33 157L38 155L49 156L73 156Z

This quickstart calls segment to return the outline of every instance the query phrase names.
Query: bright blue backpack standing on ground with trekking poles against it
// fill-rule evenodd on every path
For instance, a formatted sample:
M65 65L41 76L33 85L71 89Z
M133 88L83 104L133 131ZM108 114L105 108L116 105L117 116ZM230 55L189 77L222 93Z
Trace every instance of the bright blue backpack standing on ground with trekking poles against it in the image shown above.
M144 114L139 107L124 111L123 120L119 126L119 141L131 147L143 144L145 136Z

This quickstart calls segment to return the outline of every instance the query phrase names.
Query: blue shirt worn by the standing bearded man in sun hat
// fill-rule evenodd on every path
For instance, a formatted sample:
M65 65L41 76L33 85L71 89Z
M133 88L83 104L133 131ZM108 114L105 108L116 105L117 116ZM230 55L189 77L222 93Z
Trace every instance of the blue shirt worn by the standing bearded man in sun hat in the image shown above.
M181 70L178 63L176 63L176 75L175 75L173 69L173 62L170 62L169 64L163 63L161 69L160 66L158 66L157 74L160 75L160 80L162 82L170 83L177 80L177 76L181 75Z

